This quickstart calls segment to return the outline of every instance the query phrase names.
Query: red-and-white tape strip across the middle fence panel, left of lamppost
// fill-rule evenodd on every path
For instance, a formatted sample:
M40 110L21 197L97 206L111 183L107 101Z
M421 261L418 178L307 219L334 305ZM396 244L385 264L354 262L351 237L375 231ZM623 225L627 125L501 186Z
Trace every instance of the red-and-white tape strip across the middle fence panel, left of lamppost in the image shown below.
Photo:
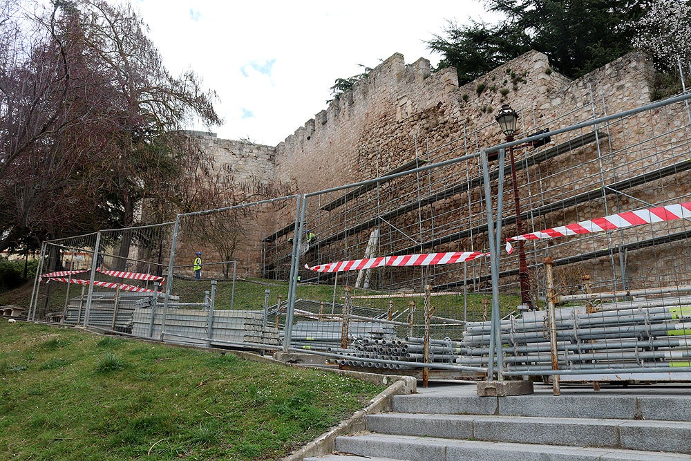
M414 265L438 265L462 263L471 261L480 256L489 256L484 252L451 252L428 254L405 254L401 256L379 256L378 258L352 259L350 261L338 261L336 263L308 266L305 269L314 272L346 272L349 270L373 269L375 267L403 267Z

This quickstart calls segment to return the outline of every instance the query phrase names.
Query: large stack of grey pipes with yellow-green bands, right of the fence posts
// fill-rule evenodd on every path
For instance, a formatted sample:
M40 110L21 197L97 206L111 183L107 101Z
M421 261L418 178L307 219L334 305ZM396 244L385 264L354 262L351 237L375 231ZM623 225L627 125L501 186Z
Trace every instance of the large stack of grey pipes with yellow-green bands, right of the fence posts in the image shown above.
M562 370L691 366L691 307L673 299L606 303L556 309L556 357ZM676 304L676 305L675 305ZM591 308L592 310L592 308ZM502 321L507 370L551 370L547 312ZM486 366L489 322L468 323L457 363Z

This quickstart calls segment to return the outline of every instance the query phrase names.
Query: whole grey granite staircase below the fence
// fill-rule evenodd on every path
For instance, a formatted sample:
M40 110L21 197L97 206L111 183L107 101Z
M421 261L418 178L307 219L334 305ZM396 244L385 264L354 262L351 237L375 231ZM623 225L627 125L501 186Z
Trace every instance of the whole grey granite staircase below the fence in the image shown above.
M471 384L393 397L368 415L367 433L339 437L348 460L691 460L688 386L564 386L515 397L477 397Z

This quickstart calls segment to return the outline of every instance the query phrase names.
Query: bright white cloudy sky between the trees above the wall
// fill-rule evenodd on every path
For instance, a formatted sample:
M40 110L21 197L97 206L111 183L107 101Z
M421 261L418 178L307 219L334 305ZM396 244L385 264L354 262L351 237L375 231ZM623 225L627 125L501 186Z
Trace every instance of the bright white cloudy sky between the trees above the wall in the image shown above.
M133 0L165 66L193 70L216 91L219 138L275 146L332 99L337 78L394 53L406 64L439 55L425 41L447 20L493 22L475 0ZM191 126L191 129L203 129Z

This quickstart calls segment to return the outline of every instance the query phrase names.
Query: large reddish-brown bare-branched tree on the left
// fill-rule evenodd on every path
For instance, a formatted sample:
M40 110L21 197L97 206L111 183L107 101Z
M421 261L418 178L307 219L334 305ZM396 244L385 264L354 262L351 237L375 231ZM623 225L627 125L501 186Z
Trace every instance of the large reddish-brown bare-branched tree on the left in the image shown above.
M214 93L168 73L129 5L0 1L0 250L189 207L209 159L183 128L220 122Z

